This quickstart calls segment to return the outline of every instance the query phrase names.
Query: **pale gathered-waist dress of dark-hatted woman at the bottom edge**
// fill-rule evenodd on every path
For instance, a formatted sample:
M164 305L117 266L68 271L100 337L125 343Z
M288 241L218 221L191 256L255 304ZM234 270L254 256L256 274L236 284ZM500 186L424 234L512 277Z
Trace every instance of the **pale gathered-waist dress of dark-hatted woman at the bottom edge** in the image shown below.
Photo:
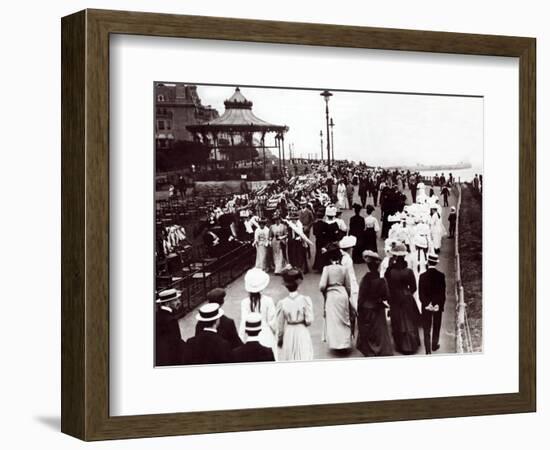
M308 327L313 323L311 298L298 292L277 304L277 328L283 347L279 359L283 361L311 361L313 343Z

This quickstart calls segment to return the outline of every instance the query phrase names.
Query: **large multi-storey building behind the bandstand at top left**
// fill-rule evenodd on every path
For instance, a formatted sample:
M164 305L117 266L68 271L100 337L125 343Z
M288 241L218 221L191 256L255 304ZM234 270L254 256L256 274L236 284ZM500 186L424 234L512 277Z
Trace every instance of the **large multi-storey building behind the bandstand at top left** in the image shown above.
M217 117L218 111L202 104L196 86L183 83L158 83L155 86L157 150L171 149L178 141L193 141L193 135L186 127Z

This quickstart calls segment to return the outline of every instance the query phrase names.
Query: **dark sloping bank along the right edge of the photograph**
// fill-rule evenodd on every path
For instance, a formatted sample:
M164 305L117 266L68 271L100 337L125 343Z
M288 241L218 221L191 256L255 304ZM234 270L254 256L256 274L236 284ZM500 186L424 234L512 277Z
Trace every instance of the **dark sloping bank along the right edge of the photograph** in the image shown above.
M471 350L482 351L482 200L471 184L462 185L458 248Z

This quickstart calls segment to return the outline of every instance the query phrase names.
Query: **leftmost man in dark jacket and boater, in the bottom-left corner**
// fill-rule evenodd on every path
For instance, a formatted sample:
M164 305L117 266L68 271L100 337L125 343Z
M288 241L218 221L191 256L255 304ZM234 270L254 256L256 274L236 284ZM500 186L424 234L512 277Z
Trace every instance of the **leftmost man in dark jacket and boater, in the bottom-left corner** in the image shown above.
M176 366L186 364L188 352L181 339L175 313L181 307L181 293L166 289L159 293L155 313L155 365Z

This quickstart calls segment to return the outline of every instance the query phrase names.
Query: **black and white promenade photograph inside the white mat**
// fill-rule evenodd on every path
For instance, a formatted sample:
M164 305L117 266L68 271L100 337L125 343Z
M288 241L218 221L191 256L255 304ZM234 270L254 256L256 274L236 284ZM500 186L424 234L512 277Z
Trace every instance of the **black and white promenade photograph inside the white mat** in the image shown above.
M155 366L483 352L483 96L153 92Z

